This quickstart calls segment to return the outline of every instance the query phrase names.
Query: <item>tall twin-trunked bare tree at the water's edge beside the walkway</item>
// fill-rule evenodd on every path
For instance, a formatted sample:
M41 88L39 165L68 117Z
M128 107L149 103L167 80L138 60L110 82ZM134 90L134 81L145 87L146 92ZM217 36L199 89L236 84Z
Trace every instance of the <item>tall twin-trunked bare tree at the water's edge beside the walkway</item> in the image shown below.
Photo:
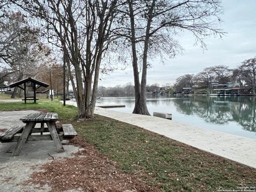
M222 13L219 0L127 0L120 10L124 27L116 32L123 35L124 46L131 46L135 88L133 113L149 115L146 105L148 60L174 57L181 50L175 36L189 31L196 43L205 47L204 38L222 35L218 28ZM140 80L141 66L141 80Z

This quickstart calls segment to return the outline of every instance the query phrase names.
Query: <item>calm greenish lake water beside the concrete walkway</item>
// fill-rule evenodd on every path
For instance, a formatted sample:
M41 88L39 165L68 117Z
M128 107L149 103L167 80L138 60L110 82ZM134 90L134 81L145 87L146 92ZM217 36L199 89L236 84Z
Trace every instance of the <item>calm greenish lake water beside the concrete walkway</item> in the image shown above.
M132 113L134 98L100 98L98 105L125 104L112 110ZM147 98L149 113L172 114L175 122L256 139L256 97Z

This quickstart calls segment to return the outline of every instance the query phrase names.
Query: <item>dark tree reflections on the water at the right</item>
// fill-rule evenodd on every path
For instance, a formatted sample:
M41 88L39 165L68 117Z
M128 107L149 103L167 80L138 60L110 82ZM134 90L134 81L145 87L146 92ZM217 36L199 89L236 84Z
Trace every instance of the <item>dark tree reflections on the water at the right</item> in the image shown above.
M181 114L196 115L207 123L239 123L244 130L256 132L255 97L189 97L172 100Z

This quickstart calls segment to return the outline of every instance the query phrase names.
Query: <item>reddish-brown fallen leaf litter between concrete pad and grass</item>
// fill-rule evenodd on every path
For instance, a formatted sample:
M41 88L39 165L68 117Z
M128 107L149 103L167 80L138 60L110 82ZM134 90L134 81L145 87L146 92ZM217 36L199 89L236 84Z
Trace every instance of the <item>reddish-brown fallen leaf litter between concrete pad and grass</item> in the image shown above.
M73 158L52 161L42 165L23 185L35 184L51 187L51 191L77 189L82 191L160 191L159 186L149 186L141 180L143 172L123 173L115 162L99 153L82 137L71 139L68 145L82 147Z

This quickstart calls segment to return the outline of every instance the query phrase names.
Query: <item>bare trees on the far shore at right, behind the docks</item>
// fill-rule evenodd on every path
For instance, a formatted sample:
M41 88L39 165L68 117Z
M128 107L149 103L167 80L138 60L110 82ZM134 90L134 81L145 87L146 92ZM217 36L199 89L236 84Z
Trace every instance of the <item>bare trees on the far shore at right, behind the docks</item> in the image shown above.
M228 66L207 67L198 74L186 74L178 77L174 83L174 90L181 91L183 87L198 89L212 89L213 83L226 84L239 83L242 87L248 87L255 95L256 57L244 60L237 68Z

